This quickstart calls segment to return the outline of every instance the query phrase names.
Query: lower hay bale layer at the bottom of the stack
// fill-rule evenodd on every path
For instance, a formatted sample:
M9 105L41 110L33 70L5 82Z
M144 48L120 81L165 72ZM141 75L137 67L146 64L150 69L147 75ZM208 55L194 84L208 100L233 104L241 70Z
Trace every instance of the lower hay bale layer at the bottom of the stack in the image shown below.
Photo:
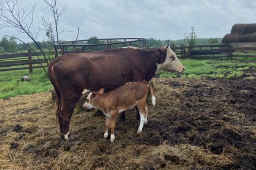
M254 34L226 34L222 39L222 44L236 42L256 42L256 33Z

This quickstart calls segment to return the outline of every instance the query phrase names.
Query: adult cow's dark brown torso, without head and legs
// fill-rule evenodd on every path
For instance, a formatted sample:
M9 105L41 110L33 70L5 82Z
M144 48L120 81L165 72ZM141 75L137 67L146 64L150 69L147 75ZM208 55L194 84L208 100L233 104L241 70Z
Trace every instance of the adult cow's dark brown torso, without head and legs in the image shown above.
M116 89L129 81L147 78L148 68L143 50L115 49L81 54L65 54L55 58L49 69L54 70L57 82L62 86L72 86L79 93L104 88ZM156 68L155 68L156 69ZM49 76L50 77L50 76ZM152 77L151 77L152 78ZM65 87L63 87L65 89Z

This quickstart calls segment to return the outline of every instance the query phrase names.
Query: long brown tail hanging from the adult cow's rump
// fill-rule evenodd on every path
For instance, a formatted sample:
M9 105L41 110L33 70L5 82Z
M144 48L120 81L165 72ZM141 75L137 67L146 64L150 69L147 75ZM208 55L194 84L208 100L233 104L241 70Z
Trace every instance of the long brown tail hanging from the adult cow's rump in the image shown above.
M48 67L48 76L49 79L51 81L51 83L53 84L53 87L55 89L55 116L57 118L57 109L59 107L60 104L60 89L59 89L59 85L57 84L57 80L56 80L56 76L55 76L55 70L54 70L54 65L57 62L55 60L53 60ZM56 119L57 120L57 119Z

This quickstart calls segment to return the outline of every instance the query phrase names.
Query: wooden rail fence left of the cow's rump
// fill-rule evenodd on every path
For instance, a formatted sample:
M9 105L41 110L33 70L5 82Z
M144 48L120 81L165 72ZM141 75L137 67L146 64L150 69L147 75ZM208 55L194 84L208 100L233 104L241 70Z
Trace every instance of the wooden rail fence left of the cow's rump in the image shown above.
M43 67L47 67L46 59L38 59L37 56L40 55L42 55L41 52L31 53L31 50L28 50L27 53L0 54L0 71L28 69L33 72L33 68L42 67L39 66L40 63L44 64Z

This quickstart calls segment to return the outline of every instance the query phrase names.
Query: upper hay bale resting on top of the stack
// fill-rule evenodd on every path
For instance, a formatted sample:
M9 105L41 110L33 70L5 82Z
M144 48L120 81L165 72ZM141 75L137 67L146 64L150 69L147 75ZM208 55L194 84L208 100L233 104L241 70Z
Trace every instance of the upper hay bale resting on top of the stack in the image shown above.
M256 32L256 24L235 24L231 34L253 34Z

